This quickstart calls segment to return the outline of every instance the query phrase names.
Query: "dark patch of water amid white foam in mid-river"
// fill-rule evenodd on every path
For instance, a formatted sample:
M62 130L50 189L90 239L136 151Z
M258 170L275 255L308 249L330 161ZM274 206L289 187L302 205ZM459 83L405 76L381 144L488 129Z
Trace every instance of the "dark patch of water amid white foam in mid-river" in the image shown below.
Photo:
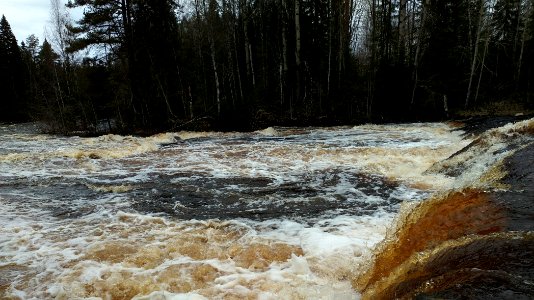
M316 174L317 175L317 174ZM160 177L136 189L133 208L179 219L266 220L314 218L324 214L370 215L398 210L403 188L379 176L343 173L273 184L265 178L198 178L178 181ZM341 177L351 189L336 191ZM423 197L424 193L420 192Z

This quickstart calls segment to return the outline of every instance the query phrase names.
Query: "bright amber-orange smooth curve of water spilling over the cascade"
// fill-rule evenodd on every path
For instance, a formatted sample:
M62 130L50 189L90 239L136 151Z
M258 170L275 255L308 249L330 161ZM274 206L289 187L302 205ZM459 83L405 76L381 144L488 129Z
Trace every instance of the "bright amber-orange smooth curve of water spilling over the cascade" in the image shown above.
M389 276L414 253L471 234L502 231L505 216L480 190L466 189L421 202L399 217L399 225L376 251L374 267L354 281L365 290Z

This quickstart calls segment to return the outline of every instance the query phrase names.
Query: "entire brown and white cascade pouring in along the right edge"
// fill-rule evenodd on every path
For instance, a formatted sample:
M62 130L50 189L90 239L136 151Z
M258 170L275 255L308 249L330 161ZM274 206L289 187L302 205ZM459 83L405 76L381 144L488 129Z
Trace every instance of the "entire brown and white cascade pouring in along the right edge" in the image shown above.
M478 175L400 212L352 280L363 299L534 297L533 124L489 130L433 166Z

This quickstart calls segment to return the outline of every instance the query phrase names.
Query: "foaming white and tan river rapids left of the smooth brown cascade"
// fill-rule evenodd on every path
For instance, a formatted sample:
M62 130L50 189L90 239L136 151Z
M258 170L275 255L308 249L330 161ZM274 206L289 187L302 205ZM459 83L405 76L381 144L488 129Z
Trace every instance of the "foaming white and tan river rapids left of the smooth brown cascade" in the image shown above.
M0 127L0 297L359 298L351 280L401 206L458 185L427 170L473 139L441 123L146 138Z

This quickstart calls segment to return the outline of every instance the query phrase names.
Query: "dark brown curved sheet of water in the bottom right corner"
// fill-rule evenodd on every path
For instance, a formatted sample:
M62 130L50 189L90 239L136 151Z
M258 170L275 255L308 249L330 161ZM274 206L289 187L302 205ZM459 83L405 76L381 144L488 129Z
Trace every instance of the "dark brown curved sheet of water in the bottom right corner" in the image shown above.
M367 286L362 298L413 299L469 284L480 285L480 292L486 290L488 297L491 289L500 286L532 295L534 286L525 281L531 278L527 269L533 263L532 232L469 235L412 253L388 275ZM470 291L464 287L456 293L460 298ZM483 298L484 294L478 296Z

